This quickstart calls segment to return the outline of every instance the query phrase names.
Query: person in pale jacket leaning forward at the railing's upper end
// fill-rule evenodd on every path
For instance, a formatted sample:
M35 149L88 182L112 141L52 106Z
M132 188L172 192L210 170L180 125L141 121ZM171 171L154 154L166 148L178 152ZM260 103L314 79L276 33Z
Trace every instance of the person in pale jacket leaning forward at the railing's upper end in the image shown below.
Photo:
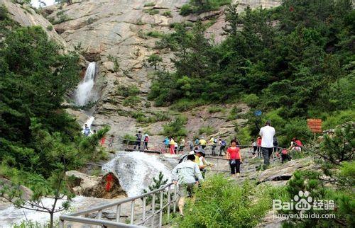
M192 197L194 186L198 186L203 181L202 173L194 161L195 155L189 154L187 155L187 161L183 161L173 169L173 183L179 185L178 207L182 216L184 216L185 198Z

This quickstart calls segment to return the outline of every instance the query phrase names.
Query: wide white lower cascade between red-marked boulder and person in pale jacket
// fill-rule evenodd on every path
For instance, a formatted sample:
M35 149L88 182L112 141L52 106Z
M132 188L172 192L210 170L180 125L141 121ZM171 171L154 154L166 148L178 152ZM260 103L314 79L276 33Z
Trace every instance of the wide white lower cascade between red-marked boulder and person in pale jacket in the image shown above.
M143 193L162 172L171 181L171 169L178 163L175 159L162 159L160 156L142 152L118 152L116 158L102 166L104 172L116 173L127 195Z

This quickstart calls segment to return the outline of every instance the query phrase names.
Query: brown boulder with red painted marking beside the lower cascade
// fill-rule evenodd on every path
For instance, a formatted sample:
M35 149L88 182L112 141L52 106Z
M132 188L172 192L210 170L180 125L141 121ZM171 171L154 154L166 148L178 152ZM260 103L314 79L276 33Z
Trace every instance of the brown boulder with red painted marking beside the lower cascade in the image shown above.
M114 173L107 173L104 176L88 176L79 171L67 171L65 174L69 179L70 188L76 195L105 199L127 196Z

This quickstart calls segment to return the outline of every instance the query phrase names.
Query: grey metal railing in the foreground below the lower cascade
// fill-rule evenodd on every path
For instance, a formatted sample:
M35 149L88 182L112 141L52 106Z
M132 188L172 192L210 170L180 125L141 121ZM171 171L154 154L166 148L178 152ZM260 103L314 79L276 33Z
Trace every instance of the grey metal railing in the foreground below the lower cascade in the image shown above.
M173 193L171 189L172 186L173 186ZM143 203L142 214L140 216L137 215L138 213L136 214L134 208L135 202L137 200L141 200ZM148 205L147 205L147 200L151 201L151 203L148 203ZM142 227L142 226L146 227L146 225L151 227L162 227L163 211L166 210L167 217L169 220L170 211L173 210L173 213L176 212L176 201L177 201L177 186L173 183L168 183L157 190L152 190L151 192L137 195L134 197L124 198L122 200L118 200L115 203L109 203L107 205L93 207L89 210L72 213L70 215L60 215L59 217L60 228L65 227L65 222L76 222L80 224L94 224L101 227ZM131 214L130 214L129 224L120 221L121 205L123 205L124 203L131 203ZM116 209L115 221L103 220L102 218L102 212L110 208ZM97 213L96 219L88 218L88 216L94 212ZM158 223L155 222L155 217L158 217L157 220Z

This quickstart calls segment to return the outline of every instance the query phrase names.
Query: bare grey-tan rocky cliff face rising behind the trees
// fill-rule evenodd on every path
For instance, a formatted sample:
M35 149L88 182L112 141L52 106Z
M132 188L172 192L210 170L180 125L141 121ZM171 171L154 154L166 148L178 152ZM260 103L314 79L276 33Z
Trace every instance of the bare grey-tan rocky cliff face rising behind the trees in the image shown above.
M151 86L153 69L148 67L146 59L149 55L158 54L163 57L163 66L173 69L170 58L172 52L155 49L155 42L159 38L146 35L150 31L171 33L170 24L182 21L195 22L201 18L204 23L212 24L207 35L213 35L215 42L223 40L222 27L224 25L224 8L219 11L202 13L199 16L180 16L180 7L189 0L91 0L75 1L74 4L54 5L43 9L43 16L32 9L26 13L22 6L5 2L16 21L22 25L41 25L47 28L51 21L55 30L48 31L50 37L69 47L81 46L82 55L89 62L97 62L99 74L96 84L101 91L101 98L94 113L94 127L110 125L114 135L125 135L136 130L148 131L151 135L158 135L162 125L167 121L140 124L132 118L133 113L141 111L147 117L157 112L166 112L168 108L156 108L147 101L147 94ZM234 1L236 2L236 1ZM280 0L242 0L239 9L246 6L273 7L280 4ZM165 13L170 12L170 13ZM165 15L165 16L163 16ZM213 21L213 23L212 23ZM59 35L58 35L59 34ZM123 106L124 97L119 96L119 86L137 86L138 97L133 106ZM248 110L244 104L238 105L243 113ZM209 113L207 107L200 107L185 113L189 119L187 130L189 135L196 135L202 126L210 125L221 129L216 134L227 135L234 132L235 125L243 124L244 120L236 122L226 121L232 106L223 106L224 112ZM173 116L177 113L170 112ZM161 139L153 136L151 140Z

